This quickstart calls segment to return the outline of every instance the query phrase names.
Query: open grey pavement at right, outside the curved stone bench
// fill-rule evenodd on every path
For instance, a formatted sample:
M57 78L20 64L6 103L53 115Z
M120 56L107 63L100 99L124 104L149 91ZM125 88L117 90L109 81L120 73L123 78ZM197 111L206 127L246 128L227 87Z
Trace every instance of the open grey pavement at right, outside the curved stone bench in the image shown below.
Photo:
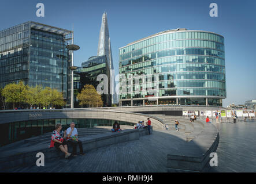
M256 172L256 121L216 123L220 133L218 167L209 172Z

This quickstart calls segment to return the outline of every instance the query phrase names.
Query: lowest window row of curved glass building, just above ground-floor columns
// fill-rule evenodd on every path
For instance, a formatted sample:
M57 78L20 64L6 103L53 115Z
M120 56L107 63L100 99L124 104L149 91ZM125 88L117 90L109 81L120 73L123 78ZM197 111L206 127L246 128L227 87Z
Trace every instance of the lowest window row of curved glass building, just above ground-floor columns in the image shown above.
M159 90L158 93L149 93L148 91L142 91L139 94L136 93L126 93L120 94L120 99L129 99L129 98L145 98L149 96L154 97L167 97L167 96L185 96L185 95L201 95L201 96L217 96L217 97L226 97L225 90L222 89L164 89Z

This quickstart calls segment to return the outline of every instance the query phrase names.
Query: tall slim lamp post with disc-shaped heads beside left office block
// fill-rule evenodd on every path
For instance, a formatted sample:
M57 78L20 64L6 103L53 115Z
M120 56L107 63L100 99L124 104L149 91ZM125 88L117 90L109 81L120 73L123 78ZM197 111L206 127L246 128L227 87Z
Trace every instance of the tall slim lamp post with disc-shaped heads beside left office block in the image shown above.
M77 51L80 49L80 47L78 45L73 44L74 43L74 26L73 26L73 32L72 32L72 44L66 45L66 48L69 51L72 51L72 59L71 59L71 67L69 67L69 69L71 69L71 108L74 108L74 81L73 81L73 71L76 70L76 68L74 69L73 66L73 52Z

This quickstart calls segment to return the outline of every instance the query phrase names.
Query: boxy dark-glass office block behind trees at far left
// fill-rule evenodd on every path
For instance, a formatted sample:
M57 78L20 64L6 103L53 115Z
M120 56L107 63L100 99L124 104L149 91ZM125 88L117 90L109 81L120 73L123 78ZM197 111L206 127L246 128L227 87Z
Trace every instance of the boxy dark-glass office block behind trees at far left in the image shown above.
M71 33L32 21L2 30L0 87L23 80L25 85L58 89L68 101L71 72L66 45L71 41Z

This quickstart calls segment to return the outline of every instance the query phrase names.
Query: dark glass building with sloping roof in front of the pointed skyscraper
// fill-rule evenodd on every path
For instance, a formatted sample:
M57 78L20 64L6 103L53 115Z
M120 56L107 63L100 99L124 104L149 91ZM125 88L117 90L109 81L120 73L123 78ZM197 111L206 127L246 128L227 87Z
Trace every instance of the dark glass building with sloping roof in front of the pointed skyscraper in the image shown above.
M107 63L106 55L103 56L92 56L86 62L81 64L81 67L74 71L74 89L75 97L77 93L81 92L84 85L90 84L97 89L100 81L97 81L97 76L105 74L108 80L108 91L110 90L109 79L110 70ZM102 89L103 90L103 89ZM112 99L110 94L102 94L103 106L111 106ZM79 101L75 99L75 108L79 107Z

